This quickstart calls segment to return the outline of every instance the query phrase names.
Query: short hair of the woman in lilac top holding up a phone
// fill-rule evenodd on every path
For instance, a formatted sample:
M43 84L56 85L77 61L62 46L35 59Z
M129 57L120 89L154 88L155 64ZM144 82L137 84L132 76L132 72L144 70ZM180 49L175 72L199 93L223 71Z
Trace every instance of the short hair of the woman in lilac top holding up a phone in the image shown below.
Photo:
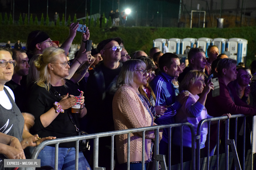
M181 81L179 85L179 91L181 92L183 90L188 90L189 86L192 86L196 82L196 80L201 76L205 76L205 74L202 71L189 71Z

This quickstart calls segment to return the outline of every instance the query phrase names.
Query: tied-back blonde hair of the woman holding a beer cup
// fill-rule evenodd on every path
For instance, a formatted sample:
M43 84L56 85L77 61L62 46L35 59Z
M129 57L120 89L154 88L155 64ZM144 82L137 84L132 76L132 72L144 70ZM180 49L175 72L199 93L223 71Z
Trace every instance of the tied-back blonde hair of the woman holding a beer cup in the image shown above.
M48 69L48 64L55 62L59 54L65 54L65 50L61 48L48 47L44 49L43 54L38 55L37 59L34 60L34 65L39 71L39 77L36 83L40 87L46 88L50 91L51 88L51 71ZM65 80L62 78L62 84L65 85Z

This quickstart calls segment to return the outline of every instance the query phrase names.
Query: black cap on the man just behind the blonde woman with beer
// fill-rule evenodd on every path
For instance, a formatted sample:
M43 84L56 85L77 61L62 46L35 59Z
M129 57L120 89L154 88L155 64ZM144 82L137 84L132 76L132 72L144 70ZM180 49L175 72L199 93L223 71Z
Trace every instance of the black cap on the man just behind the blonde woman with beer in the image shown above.
M44 31L32 31L29 33L28 40L27 40L27 50L28 51L33 51L35 48L35 45L47 40L49 37L48 34Z

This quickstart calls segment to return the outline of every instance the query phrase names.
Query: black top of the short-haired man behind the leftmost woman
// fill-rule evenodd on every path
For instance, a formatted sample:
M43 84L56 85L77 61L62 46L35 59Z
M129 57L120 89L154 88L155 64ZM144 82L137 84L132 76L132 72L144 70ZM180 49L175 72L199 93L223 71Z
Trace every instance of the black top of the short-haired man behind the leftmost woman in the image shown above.
M23 77L22 80L25 80L26 77ZM21 112L27 112L26 110L26 103L27 103L27 95L26 95L26 81L20 81L20 84L15 83L14 81L8 81L5 83L6 86L10 87L12 90L15 103L20 109Z

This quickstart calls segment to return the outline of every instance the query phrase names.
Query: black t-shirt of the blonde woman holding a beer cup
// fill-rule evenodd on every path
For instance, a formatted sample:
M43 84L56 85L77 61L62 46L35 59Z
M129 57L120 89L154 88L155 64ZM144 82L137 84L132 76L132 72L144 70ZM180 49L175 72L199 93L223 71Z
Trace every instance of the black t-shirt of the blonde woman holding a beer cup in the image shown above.
M69 95L79 96L80 92L77 90L75 84L71 80L65 80L67 87L51 86L51 88L54 88L62 97L67 93L69 93ZM48 136L63 138L77 135L75 126L71 122L68 114L68 112L71 113L71 108L65 110L64 113L59 113L49 126L43 127L40 116L50 110L53 107L54 102L59 101L60 99L53 94L52 90L48 92L45 88L40 87L37 84L32 86L28 100L29 113L32 113L35 117L35 124L31 129L32 134L38 134L40 138ZM72 113L72 117L79 128L78 113ZM59 144L59 147L75 147L75 142Z

